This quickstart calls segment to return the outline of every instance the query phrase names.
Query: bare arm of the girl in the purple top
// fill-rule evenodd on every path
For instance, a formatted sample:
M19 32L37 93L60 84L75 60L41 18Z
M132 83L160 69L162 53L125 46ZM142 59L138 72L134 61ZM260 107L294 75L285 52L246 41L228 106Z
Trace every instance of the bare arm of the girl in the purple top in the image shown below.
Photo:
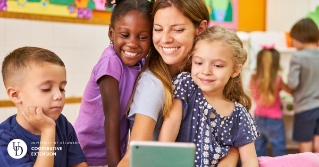
M115 167L121 161L120 151L120 95L119 82L105 75L99 79L103 111L105 116L105 147L109 167Z

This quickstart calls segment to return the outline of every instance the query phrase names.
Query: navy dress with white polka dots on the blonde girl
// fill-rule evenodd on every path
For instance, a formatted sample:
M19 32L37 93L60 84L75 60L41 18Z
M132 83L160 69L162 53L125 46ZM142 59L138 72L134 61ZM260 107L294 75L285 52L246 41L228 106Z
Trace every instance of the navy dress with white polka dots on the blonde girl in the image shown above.
M231 146L246 145L259 136L252 116L242 104L232 100L234 111L230 116L222 116L208 104L189 73L176 76L173 84L174 98L181 99L183 105L176 141L195 143L195 166L217 166ZM211 113L216 117L210 119Z

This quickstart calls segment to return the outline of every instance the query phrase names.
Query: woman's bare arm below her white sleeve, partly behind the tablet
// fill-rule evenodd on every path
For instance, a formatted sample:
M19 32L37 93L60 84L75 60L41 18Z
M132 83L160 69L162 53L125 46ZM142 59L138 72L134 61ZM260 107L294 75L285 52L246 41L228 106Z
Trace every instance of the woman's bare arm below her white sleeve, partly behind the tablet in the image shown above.
M130 142L131 141L152 141L153 133L156 122L151 117L135 114L135 121L133 124ZM130 146L128 145L127 152L118 167L129 167L130 166Z

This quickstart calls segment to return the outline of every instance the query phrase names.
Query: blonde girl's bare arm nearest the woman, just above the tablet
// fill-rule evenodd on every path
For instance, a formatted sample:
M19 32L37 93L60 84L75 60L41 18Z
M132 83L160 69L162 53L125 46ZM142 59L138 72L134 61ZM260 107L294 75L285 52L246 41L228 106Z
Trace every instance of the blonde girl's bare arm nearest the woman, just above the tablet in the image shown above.
M164 119L158 141L175 142L183 116L182 101L174 99L169 115Z

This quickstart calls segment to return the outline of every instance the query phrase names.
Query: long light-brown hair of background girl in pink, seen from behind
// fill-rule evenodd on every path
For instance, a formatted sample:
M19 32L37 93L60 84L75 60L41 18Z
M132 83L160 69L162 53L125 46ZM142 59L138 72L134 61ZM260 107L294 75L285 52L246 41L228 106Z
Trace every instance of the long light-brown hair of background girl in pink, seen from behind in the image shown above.
M258 104L269 106L276 100L279 52L276 49L263 49L257 54L257 72L252 79L257 83L260 94Z

